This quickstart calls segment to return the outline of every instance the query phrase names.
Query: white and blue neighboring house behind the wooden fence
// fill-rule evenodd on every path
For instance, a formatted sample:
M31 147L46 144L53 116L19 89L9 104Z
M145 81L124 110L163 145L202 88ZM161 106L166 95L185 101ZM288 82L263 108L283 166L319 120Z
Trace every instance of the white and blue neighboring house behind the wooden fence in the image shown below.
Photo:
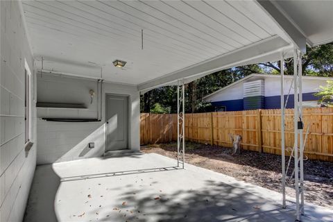
M302 76L302 95L304 107L319 107L318 92L327 80L316 76ZM284 76L284 99L290 90L287 108L293 108L293 76ZM256 109L280 109L280 75L250 74L203 99L214 105L216 111L240 111Z

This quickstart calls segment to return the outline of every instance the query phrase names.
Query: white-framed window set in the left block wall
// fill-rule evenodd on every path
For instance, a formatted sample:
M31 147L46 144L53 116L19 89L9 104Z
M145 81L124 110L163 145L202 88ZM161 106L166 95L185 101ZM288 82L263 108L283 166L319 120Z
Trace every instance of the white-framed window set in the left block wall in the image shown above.
M24 125L25 125L25 143L30 142L31 139L31 72L28 66L24 69L24 84L25 84L25 98L24 98Z

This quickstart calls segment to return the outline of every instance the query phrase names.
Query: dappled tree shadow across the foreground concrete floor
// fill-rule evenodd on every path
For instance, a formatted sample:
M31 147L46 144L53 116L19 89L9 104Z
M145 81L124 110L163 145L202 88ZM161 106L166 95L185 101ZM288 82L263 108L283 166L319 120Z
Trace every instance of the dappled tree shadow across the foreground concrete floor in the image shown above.
M205 183L205 190L185 191L178 187L173 194L143 196L140 195L143 191L129 186L128 191L119 194L126 205L105 206L109 214L97 216L96 220L110 221L110 215L116 214L112 221L294 221L294 210L282 210L278 204L267 203L264 198L223 182L206 180Z

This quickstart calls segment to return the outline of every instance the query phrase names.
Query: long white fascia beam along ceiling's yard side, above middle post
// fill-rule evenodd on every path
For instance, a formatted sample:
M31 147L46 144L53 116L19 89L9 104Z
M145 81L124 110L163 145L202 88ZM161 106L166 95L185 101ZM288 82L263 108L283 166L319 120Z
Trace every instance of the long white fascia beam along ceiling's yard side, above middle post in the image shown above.
M280 51L290 48L290 44L278 35L250 44L241 49L218 56L211 60L200 62L191 67L180 69L160 78L155 78L146 83L138 85L139 91L153 89L161 85L173 84L177 80L185 80L189 83L196 78L212 74L214 71L229 69L240 65L255 64L257 62L267 62L280 59Z

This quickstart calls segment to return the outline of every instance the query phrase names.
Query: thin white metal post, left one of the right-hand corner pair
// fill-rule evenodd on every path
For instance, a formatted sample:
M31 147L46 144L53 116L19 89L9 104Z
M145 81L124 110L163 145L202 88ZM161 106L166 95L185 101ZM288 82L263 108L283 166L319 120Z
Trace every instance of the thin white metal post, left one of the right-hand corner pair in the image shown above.
M284 140L284 56L281 51L280 60L281 74L281 164L282 164L282 208L286 208L286 155Z

